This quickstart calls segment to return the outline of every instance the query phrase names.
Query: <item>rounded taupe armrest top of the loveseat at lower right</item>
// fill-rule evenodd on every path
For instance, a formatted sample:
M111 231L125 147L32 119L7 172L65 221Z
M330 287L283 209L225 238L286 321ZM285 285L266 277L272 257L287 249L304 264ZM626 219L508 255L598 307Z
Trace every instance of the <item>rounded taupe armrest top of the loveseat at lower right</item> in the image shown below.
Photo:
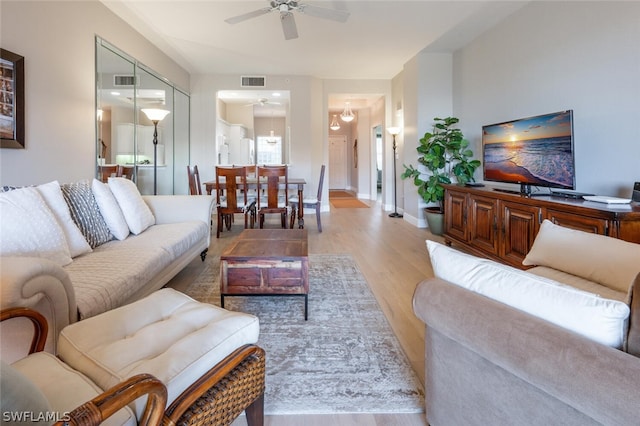
M596 421L637 422L639 358L437 278L418 285L413 308L428 328Z

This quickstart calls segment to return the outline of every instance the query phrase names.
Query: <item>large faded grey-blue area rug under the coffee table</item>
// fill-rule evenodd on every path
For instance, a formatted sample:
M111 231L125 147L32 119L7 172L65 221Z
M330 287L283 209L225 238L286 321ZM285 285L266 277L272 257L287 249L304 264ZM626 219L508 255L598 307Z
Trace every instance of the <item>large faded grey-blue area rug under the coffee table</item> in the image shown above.
M227 297L260 318L267 353L266 414L415 413L424 391L369 285L349 255L309 256L302 297ZM220 304L219 257L186 293Z

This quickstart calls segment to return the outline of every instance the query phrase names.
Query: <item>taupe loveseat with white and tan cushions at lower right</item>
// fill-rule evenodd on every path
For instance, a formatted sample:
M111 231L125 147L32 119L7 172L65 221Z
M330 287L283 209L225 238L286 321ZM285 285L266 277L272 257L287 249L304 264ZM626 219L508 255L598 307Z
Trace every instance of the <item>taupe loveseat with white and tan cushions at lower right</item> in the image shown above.
M638 424L640 245L545 222L521 271L427 244L429 424Z

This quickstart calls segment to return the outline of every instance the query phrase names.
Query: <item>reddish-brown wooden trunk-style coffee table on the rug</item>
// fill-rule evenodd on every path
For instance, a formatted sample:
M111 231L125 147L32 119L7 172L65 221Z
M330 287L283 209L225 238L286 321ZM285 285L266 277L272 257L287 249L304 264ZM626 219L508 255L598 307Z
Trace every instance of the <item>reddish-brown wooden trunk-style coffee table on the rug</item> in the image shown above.
M245 229L220 255L220 304L225 296L303 296L309 307L306 229Z

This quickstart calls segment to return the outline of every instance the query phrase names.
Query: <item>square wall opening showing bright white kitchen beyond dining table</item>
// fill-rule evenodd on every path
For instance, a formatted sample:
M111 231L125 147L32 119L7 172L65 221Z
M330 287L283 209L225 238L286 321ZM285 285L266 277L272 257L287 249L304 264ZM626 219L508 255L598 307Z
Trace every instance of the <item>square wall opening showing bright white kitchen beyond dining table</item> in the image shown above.
M218 92L216 163L289 163L288 90Z

